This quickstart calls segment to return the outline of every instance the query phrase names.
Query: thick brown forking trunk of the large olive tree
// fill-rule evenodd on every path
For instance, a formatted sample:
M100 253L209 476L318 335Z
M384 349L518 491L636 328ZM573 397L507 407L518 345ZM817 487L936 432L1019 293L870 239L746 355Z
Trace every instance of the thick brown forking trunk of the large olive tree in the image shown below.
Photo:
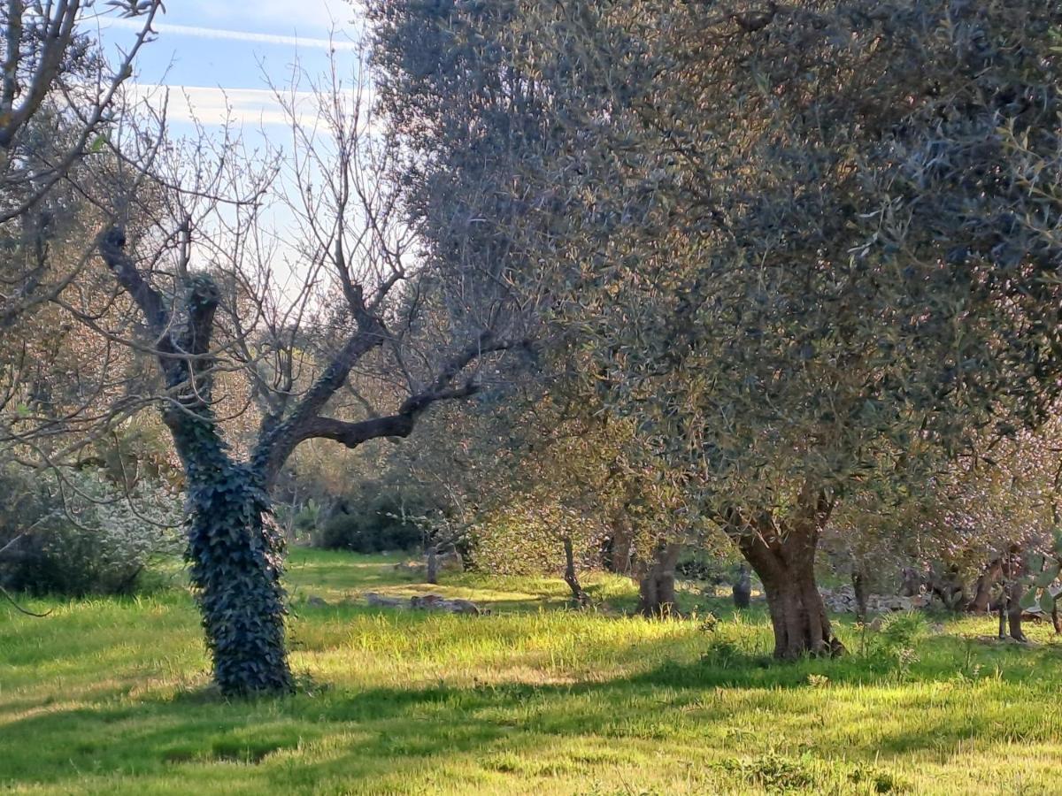
M834 635L815 579L819 535L833 504L823 492L805 487L796 515L778 521L769 514L743 519L725 514L725 529L764 584L774 629L774 657L839 655L844 646Z

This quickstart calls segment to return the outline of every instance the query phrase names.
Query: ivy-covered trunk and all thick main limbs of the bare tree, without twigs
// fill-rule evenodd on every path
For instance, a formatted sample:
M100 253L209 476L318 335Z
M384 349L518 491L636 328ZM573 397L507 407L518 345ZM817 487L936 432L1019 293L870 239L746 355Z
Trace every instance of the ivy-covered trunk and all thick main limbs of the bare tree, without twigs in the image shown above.
M337 255L333 264L354 328L297 398L287 391L263 394L258 439L250 460L237 463L226 450L211 398L217 284L206 274L185 273L178 275L177 293L164 295L139 272L125 243L124 230L113 227L100 236L100 254L139 309L147 345L155 351L166 383L159 402L187 475L188 558L215 678L226 696L290 691L280 584L284 542L269 500L280 468L306 439L331 439L353 449L370 439L408 436L436 401L480 390L472 375L463 375L469 364L524 341L498 339L484 329L438 362L434 378L410 393L392 414L356 421L328 417L323 413L356 363L391 339L381 319L381 301L400 276L395 274L366 299L345 258Z

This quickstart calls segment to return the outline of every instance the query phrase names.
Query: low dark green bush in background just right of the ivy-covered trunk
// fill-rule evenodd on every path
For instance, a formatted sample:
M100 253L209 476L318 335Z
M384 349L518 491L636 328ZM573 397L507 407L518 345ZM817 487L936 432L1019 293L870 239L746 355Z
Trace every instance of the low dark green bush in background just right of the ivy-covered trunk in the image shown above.
M421 511L421 506L411 507L393 492L377 495L355 506L343 502L318 529L313 544L356 553L413 550L421 544L422 531L412 517Z

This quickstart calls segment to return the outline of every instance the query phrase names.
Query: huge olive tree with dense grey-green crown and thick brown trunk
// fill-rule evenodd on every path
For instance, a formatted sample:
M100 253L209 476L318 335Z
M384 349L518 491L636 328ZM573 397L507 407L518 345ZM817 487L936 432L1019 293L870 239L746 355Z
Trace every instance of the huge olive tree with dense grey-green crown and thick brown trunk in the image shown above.
M815 578L838 501L1058 392L1056 4L432 8L432 56L477 53L563 141L512 170L518 241L611 405L759 575L775 655L839 651Z

